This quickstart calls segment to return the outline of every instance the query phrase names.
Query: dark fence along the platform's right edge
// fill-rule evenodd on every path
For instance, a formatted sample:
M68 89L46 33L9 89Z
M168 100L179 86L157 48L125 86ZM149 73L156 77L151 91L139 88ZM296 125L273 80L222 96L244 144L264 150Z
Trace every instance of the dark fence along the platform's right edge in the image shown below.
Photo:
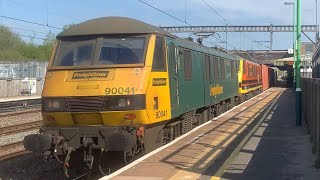
M302 78L302 111L310 132L315 167L320 168L320 79Z

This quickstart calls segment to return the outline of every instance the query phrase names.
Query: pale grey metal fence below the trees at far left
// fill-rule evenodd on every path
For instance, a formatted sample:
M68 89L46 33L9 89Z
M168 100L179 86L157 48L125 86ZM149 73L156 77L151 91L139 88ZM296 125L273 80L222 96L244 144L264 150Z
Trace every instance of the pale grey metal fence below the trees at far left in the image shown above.
M0 62L0 78L44 78L48 62Z

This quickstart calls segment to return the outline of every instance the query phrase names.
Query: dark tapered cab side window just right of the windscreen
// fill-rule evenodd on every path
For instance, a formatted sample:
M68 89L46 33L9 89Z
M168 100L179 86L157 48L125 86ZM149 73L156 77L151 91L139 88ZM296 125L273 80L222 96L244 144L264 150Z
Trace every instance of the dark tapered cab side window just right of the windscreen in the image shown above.
M152 71L166 71L166 60L164 58L163 40L157 36L153 54Z

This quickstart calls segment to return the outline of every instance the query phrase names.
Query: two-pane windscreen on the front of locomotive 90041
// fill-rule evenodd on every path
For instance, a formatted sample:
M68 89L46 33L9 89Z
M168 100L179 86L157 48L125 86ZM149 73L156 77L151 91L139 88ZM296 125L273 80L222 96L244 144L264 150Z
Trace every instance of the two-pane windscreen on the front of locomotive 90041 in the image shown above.
M54 66L143 64L146 42L145 36L60 40L53 64Z

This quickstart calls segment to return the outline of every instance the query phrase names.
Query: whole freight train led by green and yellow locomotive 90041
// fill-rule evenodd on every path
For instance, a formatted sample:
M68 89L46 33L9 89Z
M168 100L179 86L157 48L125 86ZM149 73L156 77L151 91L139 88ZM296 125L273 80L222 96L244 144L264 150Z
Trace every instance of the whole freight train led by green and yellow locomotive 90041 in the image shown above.
M267 89L265 68L138 20L89 20L57 35L45 125L24 147L67 176L73 154L92 169L106 152L150 152Z

